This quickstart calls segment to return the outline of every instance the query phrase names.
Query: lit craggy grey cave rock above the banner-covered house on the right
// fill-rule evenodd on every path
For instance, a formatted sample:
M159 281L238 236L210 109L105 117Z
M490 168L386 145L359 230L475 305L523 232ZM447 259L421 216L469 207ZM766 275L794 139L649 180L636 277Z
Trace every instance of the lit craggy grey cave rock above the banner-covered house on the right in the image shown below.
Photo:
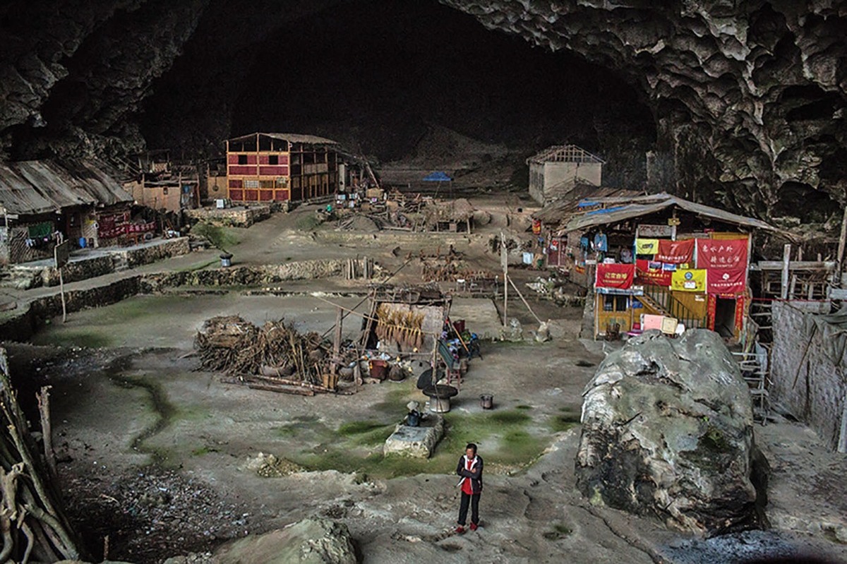
M628 75L683 195L766 217L847 200L847 2L440 1Z

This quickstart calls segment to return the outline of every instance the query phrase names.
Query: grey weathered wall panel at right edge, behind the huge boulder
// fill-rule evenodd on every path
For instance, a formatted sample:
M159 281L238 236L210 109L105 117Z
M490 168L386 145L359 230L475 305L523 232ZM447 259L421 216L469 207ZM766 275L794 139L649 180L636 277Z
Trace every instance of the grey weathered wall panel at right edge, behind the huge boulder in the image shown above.
M828 352L828 335L820 329L805 329L814 326L806 323L807 316L813 315L789 303L773 303L771 401L808 423L835 449L841 434L847 379L844 361L836 364Z

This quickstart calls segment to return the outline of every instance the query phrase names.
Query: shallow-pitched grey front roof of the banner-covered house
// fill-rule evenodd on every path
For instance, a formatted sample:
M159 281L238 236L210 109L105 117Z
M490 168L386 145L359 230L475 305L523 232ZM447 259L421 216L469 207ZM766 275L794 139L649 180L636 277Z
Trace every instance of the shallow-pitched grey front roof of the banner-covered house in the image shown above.
M610 198L614 199L614 198ZM614 202L609 202L614 203ZM772 225L761 221L761 219L747 218L743 215L727 212L717 207L706 206L695 202L689 202L678 196L670 194L656 194L655 196L636 196L619 202L621 205L595 210L589 213L573 216L567 222L564 231L580 231L598 225L617 224L631 218L639 218L650 213L661 212L667 207L677 206L687 212L697 215L718 219L728 224L743 225L752 229L766 229L777 231Z

